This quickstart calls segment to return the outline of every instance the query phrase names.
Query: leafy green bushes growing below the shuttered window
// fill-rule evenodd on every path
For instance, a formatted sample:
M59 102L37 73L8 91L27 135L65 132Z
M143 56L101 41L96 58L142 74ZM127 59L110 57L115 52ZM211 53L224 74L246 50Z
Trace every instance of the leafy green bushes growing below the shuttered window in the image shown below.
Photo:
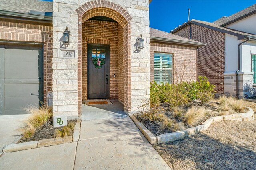
M171 107L181 106L195 99L209 102L214 96L215 86L206 77L199 76L198 79L196 82L178 84L151 82L150 107L159 106L160 103L169 103Z

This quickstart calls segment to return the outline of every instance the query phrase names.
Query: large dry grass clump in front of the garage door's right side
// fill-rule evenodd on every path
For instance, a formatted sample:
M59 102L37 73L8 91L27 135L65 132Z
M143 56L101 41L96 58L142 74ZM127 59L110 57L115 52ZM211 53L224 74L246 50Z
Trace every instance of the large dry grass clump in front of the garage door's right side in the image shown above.
M52 117L52 112L48 113L46 106L40 106L39 108L30 106L25 109L30 116L26 122L31 123L35 128L41 127L47 121L48 117Z

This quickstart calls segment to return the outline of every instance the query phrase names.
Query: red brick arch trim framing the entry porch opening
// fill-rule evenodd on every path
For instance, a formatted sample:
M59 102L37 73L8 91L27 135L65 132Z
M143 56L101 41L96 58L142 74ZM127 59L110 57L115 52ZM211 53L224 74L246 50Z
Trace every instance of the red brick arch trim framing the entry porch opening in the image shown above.
M129 13L118 4L105 0L94 0L80 6L78 13L78 115L82 115L82 24L95 16L106 16L117 21L123 28L123 103L124 111L131 110L130 76L130 20Z

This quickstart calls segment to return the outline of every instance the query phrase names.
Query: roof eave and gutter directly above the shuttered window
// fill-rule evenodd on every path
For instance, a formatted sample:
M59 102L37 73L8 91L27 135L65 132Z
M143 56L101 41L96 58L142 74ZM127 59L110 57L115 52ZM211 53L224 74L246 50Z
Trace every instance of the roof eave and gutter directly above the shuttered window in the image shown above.
M191 42L191 41L184 41L184 40L177 40L177 39L167 39L167 38L151 37L151 36L150 36L150 40L158 41L158 42L164 42L164 43L192 45L192 46L196 46L196 47L202 47L202 46L206 45L206 43L200 43L200 42Z

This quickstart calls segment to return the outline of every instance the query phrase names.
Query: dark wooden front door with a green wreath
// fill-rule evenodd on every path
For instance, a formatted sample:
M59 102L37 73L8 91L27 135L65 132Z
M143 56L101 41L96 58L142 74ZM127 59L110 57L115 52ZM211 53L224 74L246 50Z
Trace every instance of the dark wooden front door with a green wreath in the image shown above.
M88 45L88 99L109 98L109 46ZM99 64L105 64L96 68ZM96 66L95 66L96 64Z

